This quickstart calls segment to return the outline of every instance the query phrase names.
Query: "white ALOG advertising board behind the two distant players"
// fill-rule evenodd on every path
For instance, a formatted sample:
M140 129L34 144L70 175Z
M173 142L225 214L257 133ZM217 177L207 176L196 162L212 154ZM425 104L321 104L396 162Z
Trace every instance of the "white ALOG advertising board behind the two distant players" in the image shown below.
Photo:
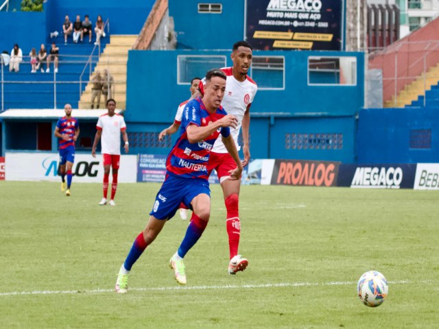
M60 182L58 167L60 156L56 153L6 153L5 179ZM75 154L74 182L102 182L104 166L102 155ZM137 156L122 155L119 167L119 183L136 182Z

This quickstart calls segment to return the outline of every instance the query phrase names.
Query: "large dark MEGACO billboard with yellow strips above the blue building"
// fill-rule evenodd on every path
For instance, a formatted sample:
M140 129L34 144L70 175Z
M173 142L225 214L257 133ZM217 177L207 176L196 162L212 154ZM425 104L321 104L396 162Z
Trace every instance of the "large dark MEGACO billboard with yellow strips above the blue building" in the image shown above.
M344 0L246 1L253 49L341 50Z

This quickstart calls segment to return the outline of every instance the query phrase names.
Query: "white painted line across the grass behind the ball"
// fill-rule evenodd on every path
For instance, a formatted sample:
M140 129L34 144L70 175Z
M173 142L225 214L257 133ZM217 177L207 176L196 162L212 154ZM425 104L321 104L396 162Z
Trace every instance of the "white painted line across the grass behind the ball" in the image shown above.
M406 284L408 280L392 281L390 284ZM357 284L353 281L345 282L283 282L283 283L266 283L266 284L225 284L223 286L187 286L187 287L150 287L150 288L130 288L130 291L176 291L176 290L223 290L223 289L263 289L278 287L310 287L310 286L344 286L349 284ZM0 293L0 297L17 296L17 295L73 295L75 293L113 293L115 289L94 289L94 290L43 290L43 291L11 291L9 293Z

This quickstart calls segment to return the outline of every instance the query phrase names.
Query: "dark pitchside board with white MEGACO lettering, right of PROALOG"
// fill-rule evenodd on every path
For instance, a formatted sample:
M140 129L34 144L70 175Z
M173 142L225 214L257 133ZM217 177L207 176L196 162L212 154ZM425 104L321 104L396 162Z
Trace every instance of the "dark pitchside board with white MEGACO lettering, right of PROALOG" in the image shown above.
M340 164L338 186L413 188L416 164Z

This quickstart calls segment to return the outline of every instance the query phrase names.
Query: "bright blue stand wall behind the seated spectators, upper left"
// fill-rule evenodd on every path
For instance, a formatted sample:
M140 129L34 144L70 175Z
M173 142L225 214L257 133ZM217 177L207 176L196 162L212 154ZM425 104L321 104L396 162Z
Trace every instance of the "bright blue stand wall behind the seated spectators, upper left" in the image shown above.
M1 1L3 3L3 1ZM110 34L139 34L150 13L154 0L48 0L43 12L0 12L0 51L11 51L15 43L23 49L23 55L41 43L50 41L49 33L62 31L64 16L69 15L75 21L76 15L84 19L88 14L93 25L101 14L104 21L110 20ZM7 32L6 32L7 31ZM55 40L55 39L54 39ZM58 36L56 42L62 42Z

